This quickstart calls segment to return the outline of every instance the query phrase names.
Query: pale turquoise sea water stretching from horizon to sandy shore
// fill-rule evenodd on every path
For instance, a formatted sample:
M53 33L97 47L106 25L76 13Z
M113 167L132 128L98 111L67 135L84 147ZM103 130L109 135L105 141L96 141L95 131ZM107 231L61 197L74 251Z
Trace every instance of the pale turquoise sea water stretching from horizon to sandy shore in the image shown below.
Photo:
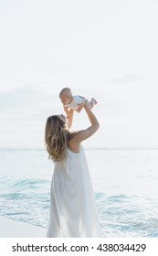
M103 237L158 237L158 150L85 149ZM47 227L54 164L39 148L0 149L0 215Z

